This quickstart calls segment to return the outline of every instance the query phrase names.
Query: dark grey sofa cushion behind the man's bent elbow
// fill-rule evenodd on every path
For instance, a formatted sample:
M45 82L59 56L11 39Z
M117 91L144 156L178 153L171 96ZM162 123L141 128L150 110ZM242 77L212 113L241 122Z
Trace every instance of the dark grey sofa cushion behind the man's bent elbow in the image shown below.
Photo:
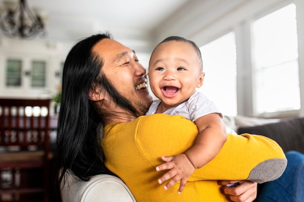
M294 150L304 153L304 118L251 127L239 127L237 133L263 135L275 140L284 152Z

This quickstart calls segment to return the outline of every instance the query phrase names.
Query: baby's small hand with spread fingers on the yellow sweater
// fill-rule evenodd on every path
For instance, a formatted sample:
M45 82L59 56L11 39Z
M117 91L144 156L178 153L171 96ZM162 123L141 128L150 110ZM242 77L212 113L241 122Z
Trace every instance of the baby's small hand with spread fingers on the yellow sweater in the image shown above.
M170 186L181 181L181 185L178 189L178 193L180 194L184 190L187 179L194 172L195 168L185 154L166 157L162 156L162 160L166 161L166 163L157 166L156 171L169 171L158 179L158 183L162 184L166 180L170 179L170 181L164 186L164 189L167 190Z

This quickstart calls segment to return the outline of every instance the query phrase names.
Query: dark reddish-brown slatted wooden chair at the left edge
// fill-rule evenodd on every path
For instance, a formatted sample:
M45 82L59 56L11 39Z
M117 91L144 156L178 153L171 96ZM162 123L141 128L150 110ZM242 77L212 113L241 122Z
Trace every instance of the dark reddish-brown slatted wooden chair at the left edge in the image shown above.
M48 202L50 100L0 99L0 202Z

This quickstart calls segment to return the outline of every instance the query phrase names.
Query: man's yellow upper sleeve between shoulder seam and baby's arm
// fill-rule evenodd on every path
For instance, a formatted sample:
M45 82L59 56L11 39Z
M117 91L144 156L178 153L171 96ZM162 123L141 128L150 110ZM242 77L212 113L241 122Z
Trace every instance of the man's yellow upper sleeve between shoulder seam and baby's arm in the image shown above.
M138 150L153 166L160 156L186 152L198 135L197 126L184 116L152 114L138 117L134 140Z

